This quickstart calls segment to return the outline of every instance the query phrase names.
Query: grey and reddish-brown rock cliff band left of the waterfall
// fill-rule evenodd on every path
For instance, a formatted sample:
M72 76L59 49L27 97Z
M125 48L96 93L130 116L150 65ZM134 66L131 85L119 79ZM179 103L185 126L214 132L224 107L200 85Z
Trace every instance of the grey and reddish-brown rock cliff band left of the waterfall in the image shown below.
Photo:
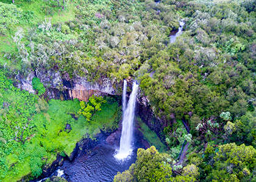
M37 75L41 83L47 89L47 96L49 99L74 99L78 98L80 101L88 101L92 95L105 96L116 95L116 90L113 88L109 79L102 80L102 84L91 84L86 78L77 77L70 79L67 74L60 75L59 72L49 70L48 72L38 73L31 72L27 78L19 77L20 83L17 87L34 93L32 87L32 79Z

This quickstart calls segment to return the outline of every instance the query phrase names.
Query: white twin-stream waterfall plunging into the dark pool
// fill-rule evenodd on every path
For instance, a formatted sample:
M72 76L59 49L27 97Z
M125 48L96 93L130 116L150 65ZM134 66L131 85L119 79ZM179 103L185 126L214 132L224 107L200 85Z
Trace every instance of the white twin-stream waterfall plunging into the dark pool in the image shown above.
M126 83L124 83L125 86ZM130 94L130 99L127 104L127 108L123 109L123 123L122 123L122 134L121 134L121 141L120 141L120 149L119 153L116 154L116 158L119 160L124 159L130 155L132 152L132 130L133 130L133 119L135 113L135 103L136 103L136 96L137 96L138 84L136 82L133 83L132 86L132 93ZM123 94L126 91L123 91ZM123 95L123 102L126 101ZM123 103L123 107L126 104Z

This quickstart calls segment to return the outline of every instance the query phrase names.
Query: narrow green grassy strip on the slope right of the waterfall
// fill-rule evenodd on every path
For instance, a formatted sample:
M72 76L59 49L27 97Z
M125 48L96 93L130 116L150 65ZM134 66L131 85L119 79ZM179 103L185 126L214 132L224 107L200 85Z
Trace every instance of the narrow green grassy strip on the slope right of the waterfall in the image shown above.
M146 139L151 146L155 146L155 148L159 152L168 151L167 147L158 138L157 134L153 132L151 129L149 129L149 127L145 123L143 123L143 121L141 121L140 118L137 118L137 120L140 126L139 130L143 133L144 139Z

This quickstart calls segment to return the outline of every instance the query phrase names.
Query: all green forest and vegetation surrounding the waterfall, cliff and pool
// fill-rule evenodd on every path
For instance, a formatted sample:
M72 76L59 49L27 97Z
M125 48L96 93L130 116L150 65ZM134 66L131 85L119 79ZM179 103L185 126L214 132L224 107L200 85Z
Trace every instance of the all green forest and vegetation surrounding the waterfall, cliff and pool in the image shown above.
M129 76L140 83L168 151L139 149L114 181L256 181L255 32L255 0L2 0L0 181L38 177L83 136L118 127L111 97L49 100L40 77L50 72L107 79L117 94ZM36 93L16 88L32 71Z

